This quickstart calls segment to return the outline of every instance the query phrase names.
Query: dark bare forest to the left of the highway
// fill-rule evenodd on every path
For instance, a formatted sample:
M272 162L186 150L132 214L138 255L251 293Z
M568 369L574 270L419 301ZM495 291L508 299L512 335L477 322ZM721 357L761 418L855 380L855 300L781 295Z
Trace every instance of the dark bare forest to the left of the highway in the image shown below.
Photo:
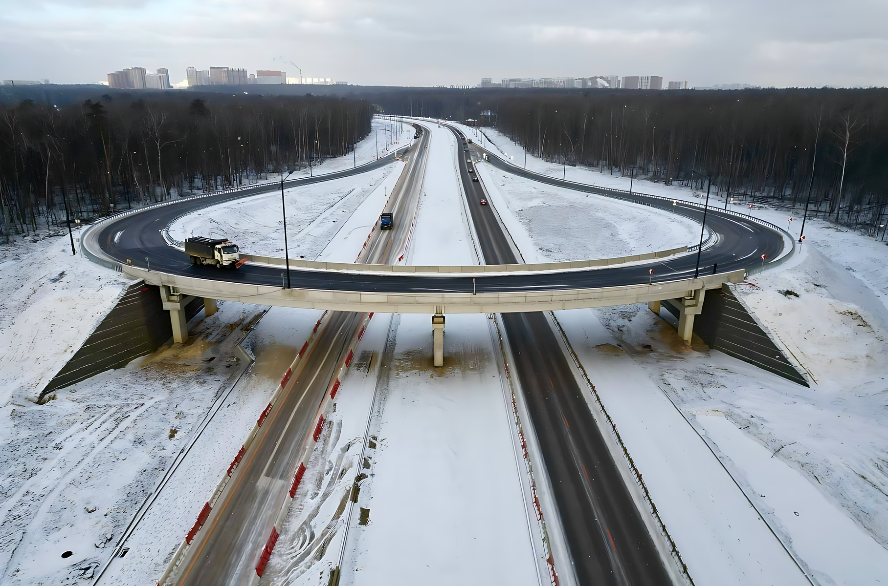
M221 93L0 104L0 243L344 155L372 115L360 99Z

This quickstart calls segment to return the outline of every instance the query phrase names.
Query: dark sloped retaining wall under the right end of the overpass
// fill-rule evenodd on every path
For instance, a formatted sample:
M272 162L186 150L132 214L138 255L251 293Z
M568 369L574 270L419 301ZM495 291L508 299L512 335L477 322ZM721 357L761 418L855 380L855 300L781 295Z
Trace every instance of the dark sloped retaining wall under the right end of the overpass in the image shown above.
M678 316L675 301L663 301L670 313ZM781 347L771 339L749 309L733 294L731 285L710 289L703 301L702 314L694 320L694 333L707 346L743 362L773 372L784 379L808 387L808 381L789 361Z

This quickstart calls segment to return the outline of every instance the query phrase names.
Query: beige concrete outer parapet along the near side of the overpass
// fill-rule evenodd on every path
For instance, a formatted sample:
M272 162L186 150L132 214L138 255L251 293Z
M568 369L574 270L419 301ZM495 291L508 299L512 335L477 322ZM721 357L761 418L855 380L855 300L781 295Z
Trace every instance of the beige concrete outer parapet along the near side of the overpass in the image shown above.
M685 297L697 289L718 289L726 282L740 283L744 272L707 275L654 285L622 285L595 289L531 291L526 293L359 293L317 289L283 289L270 285L250 285L228 281L210 281L184 275L149 272L124 267L131 277L144 278L153 285L172 285L181 293L303 309L337 311L379 311L384 313L511 313L554 309L601 308L630 303L646 303Z

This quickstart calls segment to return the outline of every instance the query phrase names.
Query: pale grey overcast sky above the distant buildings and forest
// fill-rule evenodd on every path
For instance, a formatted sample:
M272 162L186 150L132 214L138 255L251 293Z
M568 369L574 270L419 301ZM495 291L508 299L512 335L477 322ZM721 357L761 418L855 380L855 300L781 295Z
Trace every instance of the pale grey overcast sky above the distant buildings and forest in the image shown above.
M281 58L283 59L281 61ZM692 86L888 85L888 0L0 0L0 79L143 66L361 85L662 75Z

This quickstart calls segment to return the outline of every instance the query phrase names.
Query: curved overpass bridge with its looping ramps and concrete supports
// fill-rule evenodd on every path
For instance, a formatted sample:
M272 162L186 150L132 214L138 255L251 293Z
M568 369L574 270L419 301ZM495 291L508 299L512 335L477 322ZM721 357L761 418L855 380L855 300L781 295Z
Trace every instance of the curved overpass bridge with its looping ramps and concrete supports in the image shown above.
M519 176L628 200L702 222L704 206L696 202L540 176L511 165L495 152L478 145L472 148L488 153L488 159L497 168ZM395 152L361 167L297 179L287 185L355 175L385 165L397 155ZM710 238L700 251L692 246L615 259L535 265L410 267L291 259L289 267L285 267L283 259L246 254L248 262L240 270L217 270L192 265L180 250L181 244L166 232L180 215L279 187L280 184L265 184L114 215L88 227L81 247L96 262L160 286L163 308L170 310L173 338L177 342L187 338L186 303L202 297L208 313L215 310L216 300L226 300L304 309L436 316L598 308L638 302L658 309L660 301L675 300L673 306L680 308L678 333L690 343L694 316L702 310L706 290L739 283L747 271L783 262L795 249L794 240L781 228L713 207L706 209ZM286 286L287 270L292 288Z

